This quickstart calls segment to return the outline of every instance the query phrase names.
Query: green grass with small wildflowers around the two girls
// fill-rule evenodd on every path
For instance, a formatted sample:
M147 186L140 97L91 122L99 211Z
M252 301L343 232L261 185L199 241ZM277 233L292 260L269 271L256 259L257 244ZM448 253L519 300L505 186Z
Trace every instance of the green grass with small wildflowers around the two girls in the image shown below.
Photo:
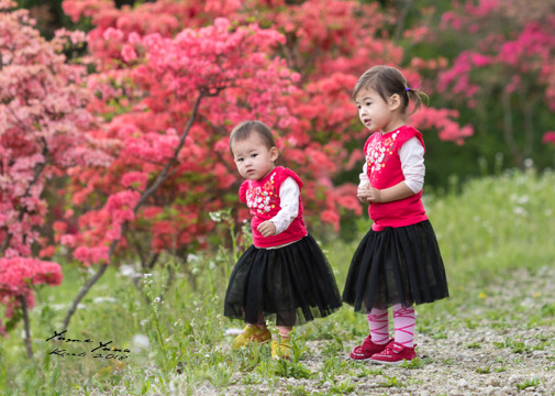
M460 195L425 197L452 296L418 307L419 332L445 338L453 327L471 330L484 322L501 329L512 326L511 318L522 314L525 307L507 301L507 307L499 309L491 305L490 297L501 298L496 285L510 280L508 274L511 272L525 268L535 273L553 265L553 186L554 174L511 172L469 182ZM360 219L357 226L362 233L369 227L369 221ZM318 234L318 230L311 230L311 233ZM358 240L349 243L335 240L323 246L340 289L357 243ZM232 255L224 250L218 254L201 252L189 264L187 273L178 272L165 294L162 290L171 263L141 279L143 292L138 292L131 278L118 268L110 268L86 296L84 307L74 316L65 334L93 342L46 341L54 331L62 330L69 302L89 276L87 270L67 265L59 287L43 288L37 293L36 307L31 312L35 358L26 359L21 322L9 338L1 341L0 394L225 394L230 385L241 385L244 394L254 395L257 394L256 386L264 386L268 394L276 393L280 378L311 378L330 385L329 392L322 394L348 394L356 391L356 386L340 378L341 374L381 375L376 367L341 359L347 353L345 341L358 340L367 333L365 316L355 315L348 306L330 318L298 329L297 342L301 350L307 341L323 341L322 366L318 372L308 369L299 359L301 356L292 362L270 360L268 345L232 352L230 338L224 331L242 327L240 321L230 322L222 315L223 295L232 266ZM195 279L187 274L195 274ZM530 288L531 295L524 297L534 298ZM158 300L160 295L163 297ZM473 307L471 314L468 307ZM529 323L524 326L553 324L554 311L555 305L545 305L537 312L529 312ZM112 341L109 346L122 352L100 351L102 358L93 358L91 345L96 348L99 342L109 341ZM512 351L518 358L551 342L545 339L536 341L532 345L507 339L497 346ZM76 354L85 352L85 356L49 354L56 348ZM479 344L466 348L479 348ZM125 350L130 352L124 353ZM125 358L106 359L110 354ZM419 370L422 365L419 361L409 369ZM491 370L497 369L485 366L478 371L488 373ZM388 387L407 385L396 376L384 378L384 393ZM525 388L534 384L531 381L518 386ZM302 383L289 384L287 392L309 394Z

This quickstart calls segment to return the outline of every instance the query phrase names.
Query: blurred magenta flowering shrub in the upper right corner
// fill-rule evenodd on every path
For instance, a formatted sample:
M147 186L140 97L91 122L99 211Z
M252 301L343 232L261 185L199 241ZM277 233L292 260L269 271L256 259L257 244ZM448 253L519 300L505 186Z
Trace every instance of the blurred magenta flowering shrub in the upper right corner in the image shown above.
M551 4L542 0L457 2L443 14L437 34L464 40L464 51L439 74L440 92L473 109L475 123L489 129L484 133L499 130L513 163L523 166L532 154L537 155L542 141L550 142L544 128L552 128L548 120L555 109ZM486 117L495 122L485 125Z

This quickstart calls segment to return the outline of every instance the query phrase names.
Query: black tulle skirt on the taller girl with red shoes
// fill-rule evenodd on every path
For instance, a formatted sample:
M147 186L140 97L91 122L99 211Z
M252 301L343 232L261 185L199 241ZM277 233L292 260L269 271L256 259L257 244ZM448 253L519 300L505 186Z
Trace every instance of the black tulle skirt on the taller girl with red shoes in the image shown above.
M445 267L429 220L370 230L348 270L343 301L357 312L404 307L448 297Z

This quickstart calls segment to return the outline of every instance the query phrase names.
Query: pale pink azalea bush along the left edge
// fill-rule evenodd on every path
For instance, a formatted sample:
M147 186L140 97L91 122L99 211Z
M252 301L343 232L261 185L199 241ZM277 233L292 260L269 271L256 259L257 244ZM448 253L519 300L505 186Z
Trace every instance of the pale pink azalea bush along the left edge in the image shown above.
M33 248L44 257L54 253L40 233L46 184L77 164L110 162L85 133L93 121L87 70L60 54L85 35L58 32L47 42L27 11L13 7L0 1L0 301L7 317L22 296L33 306L31 285L62 282L58 264L33 257Z

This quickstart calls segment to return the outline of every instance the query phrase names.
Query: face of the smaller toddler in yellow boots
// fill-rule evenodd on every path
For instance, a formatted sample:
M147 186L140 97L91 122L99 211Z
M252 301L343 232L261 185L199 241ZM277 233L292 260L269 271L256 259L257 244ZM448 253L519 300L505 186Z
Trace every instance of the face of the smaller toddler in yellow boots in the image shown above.
M276 167L277 148L268 148L256 132L245 140L233 142L231 150L240 175L246 179L259 180Z

